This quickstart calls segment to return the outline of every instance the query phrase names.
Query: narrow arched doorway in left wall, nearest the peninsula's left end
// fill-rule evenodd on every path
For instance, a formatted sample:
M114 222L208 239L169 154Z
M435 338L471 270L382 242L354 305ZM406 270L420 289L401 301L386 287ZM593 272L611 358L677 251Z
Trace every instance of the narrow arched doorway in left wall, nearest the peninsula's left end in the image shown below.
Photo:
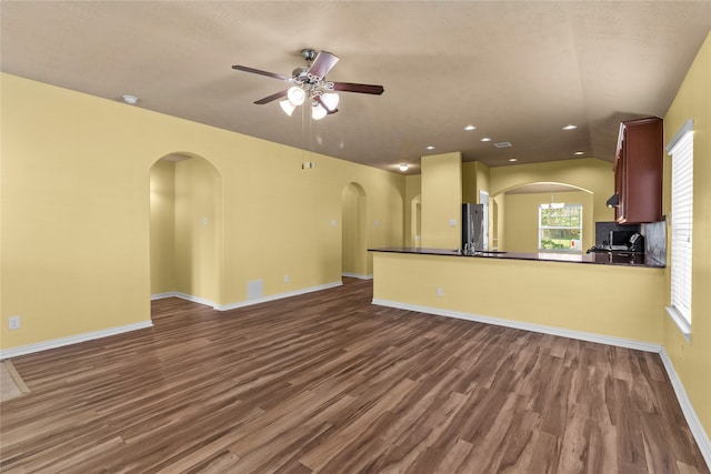
M341 210L341 273L343 276L368 278L365 191L360 184L350 183L343 188Z

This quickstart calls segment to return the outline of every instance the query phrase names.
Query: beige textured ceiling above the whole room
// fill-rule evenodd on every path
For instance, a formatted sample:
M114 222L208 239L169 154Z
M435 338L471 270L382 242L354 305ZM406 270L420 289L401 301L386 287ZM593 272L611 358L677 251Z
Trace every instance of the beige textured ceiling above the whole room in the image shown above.
M711 30L711 1L3 0L0 14L4 72L410 173L450 151L612 160L619 122L663 117ZM252 103L284 82L231 69L290 75L307 47L340 57L329 80L385 92L342 93L312 122Z

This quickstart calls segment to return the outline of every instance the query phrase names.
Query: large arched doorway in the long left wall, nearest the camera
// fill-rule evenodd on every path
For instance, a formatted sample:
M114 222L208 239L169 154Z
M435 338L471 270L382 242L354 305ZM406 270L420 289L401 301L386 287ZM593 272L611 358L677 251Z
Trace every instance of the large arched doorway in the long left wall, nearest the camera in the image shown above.
M151 297L221 302L222 181L206 159L171 153L150 169Z

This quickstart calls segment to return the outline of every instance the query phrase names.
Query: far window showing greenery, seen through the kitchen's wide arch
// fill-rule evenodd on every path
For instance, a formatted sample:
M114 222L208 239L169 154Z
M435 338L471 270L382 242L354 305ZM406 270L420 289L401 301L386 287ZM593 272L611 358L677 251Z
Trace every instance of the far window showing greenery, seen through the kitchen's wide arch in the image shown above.
M541 204L538 209L538 248L560 252L582 251L582 205Z

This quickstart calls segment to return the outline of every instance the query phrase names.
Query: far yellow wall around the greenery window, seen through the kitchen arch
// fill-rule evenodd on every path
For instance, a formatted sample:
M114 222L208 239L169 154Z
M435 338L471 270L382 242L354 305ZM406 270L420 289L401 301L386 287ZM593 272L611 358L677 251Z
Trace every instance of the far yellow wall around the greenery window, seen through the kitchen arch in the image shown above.
M505 245L500 250L514 252L538 252L538 210L543 203L551 202L550 193L505 194L504 231ZM582 246L578 251L591 248L595 242L595 225L592 212L592 194L583 191L557 192L555 202L581 204Z

